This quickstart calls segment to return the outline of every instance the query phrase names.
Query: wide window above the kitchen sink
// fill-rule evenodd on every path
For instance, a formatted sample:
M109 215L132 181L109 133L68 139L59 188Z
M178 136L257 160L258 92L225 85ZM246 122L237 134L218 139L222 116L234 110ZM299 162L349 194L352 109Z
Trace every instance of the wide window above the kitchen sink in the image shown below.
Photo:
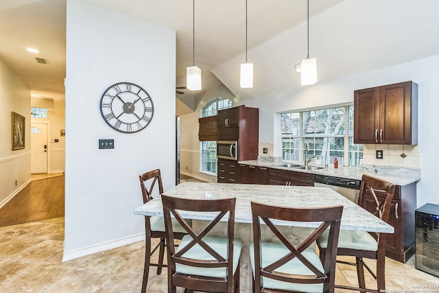
M329 164L337 156L340 165L361 165L363 145L353 142L353 108L282 113L282 159L304 161L305 143L308 143L307 159L311 161L320 158L323 164Z

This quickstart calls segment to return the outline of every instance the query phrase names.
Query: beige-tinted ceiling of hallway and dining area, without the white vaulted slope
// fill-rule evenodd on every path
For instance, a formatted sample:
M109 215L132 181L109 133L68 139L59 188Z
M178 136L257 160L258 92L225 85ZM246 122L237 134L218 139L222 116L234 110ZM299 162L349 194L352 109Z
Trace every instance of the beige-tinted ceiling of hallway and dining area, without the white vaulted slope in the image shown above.
M186 67L193 63L191 0L86 1L176 30L176 86L186 85ZM310 13L340 1L311 1ZM303 22L306 3L249 0L248 48ZM245 9L245 0L195 1L195 65L202 69L203 89L220 83L210 72L213 67L244 51ZM23 78L34 97L64 97L65 10L65 0L0 1L0 58ZM29 53L27 47L39 53ZM35 58L45 58L49 65L40 65Z

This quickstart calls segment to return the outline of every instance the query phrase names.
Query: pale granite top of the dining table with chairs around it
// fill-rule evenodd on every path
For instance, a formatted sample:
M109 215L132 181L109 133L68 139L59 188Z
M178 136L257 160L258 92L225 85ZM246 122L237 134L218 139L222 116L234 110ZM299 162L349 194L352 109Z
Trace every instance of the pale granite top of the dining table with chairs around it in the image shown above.
M329 207L341 204L344 208L340 228L384 233L393 233L394 231L392 226L328 187L183 182L163 192L163 194L195 200L237 198L235 209L235 222L237 223L252 222L250 201L292 208ZM216 215L215 213L206 215L206 213L194 211L179 212L184 218L194 220L211 220ZM134 214L163 216L161 198L156 197L134 209ZM278 225L291 225L280 220L273 220L273 222ZM318 224L316 222L296 222L294 226L316 227Z

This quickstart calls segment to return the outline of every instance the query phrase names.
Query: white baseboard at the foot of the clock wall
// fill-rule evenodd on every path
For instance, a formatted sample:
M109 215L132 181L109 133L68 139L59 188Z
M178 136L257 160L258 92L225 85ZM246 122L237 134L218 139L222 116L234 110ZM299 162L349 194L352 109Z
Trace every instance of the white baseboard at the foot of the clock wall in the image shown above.
M78 257L85 257L86 255L93 255L94 253L101 253L102 251L105 250L126 246L128 244L133 244L143 240L145 240L145 233L112 240L110 242L105 242L102 244L97 244L78 250L69 251L67 253L64 250L64 253L62 255L62 262L69 261L71 259L77 259Z

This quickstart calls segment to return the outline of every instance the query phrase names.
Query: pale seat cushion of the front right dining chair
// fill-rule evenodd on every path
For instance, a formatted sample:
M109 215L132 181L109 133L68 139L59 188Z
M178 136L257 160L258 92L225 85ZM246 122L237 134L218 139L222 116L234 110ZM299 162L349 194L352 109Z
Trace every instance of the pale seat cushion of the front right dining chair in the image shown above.
M254 244L251 243L250 246L250 262L252 263L253 276L254 276ZM287 255L289 249L283 244L277 244L272 242L261 242L261 267L270 265L276 259L281 259L281 257ZM302 252L311 263L313 263L316 268L323 272L323 266L320 262L316 250L313 248L307 248ZM285 263L276 270L276 272L282 272L285 274L300 274L300 275L311 275L314 276L313 272L307 268L299 259L296 257L291 261ZM283 281L277 281L267 277L261 277L262 287L270 289L280 289L287 291L299 291L299 292L322 292L323 284L300 284L300 283L287 283Z

